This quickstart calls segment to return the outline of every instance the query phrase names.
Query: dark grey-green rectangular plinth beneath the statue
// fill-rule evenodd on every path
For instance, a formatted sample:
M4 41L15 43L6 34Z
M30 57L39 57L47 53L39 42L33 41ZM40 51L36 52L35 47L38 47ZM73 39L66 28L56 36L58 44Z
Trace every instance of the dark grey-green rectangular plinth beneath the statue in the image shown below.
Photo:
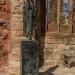
M22 41L22 75L39 74L39 47L37 41Z

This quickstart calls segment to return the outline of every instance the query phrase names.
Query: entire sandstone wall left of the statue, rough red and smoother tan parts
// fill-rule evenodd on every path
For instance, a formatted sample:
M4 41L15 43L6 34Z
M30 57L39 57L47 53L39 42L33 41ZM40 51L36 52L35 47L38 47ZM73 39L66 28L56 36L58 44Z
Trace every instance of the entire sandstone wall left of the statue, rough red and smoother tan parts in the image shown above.
M0 0L0 50L1 45L4 46L2 53L0 51L0 75L21 74L22 36L23 0Z

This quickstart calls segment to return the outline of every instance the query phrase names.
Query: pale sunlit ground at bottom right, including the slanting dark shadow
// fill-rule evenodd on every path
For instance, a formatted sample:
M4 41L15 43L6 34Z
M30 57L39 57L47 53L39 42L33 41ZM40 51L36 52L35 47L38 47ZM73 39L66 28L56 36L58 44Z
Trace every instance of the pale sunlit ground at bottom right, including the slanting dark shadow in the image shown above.
M75 75L75 67L54 66L39 75Z

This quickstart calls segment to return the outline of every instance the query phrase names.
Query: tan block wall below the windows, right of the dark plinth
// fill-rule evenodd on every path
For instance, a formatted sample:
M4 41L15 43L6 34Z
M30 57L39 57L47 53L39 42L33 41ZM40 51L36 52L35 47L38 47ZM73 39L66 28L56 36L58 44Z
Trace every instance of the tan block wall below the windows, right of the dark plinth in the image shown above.
M54 66L63 66L63 53L64 49L75 49L75 35L74 34L57 34L48 32L45 36L44 45L44 66L40 68L40 71Z

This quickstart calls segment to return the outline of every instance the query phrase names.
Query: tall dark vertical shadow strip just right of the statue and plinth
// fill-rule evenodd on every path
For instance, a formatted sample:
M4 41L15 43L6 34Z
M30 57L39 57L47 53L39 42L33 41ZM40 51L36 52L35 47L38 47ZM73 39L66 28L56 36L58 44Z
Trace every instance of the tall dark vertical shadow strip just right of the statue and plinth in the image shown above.
M41 26L40 26L40 62L39 67L44 65L44 48L45 48L45 29L46 29L46 0L40 0L40 10L41 10Z

